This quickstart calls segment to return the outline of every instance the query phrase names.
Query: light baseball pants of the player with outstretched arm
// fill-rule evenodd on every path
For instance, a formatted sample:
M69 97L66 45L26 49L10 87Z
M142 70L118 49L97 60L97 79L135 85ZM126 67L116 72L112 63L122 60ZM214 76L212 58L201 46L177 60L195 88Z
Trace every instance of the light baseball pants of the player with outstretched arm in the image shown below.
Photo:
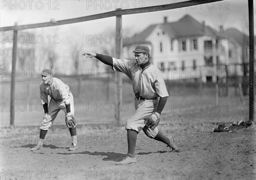
M157 110L158 98L146 99L146 100L137 100L135 99L135 113L132 114L126 121L125 129L133 129L140 133L141 130L149 137L154 138L157 133L157 127L154 130L151 130L144 124L144 120L148 115L153 114Z

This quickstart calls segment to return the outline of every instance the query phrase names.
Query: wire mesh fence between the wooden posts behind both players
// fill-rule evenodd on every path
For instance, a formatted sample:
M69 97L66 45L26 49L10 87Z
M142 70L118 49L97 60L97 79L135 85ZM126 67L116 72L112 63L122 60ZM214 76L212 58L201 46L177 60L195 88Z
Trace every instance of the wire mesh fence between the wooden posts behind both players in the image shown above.
M226 28L227 21L233 18L227 12L238 14L235 10L239 3L243 3L236 2L236 6L232 6L230 1L207 2L204 6L201 5L204 1L192 1L190 3L195 3L194 6L190 3L171 2L168 6L154 7L158 8L156 11L171 8L175 10L161 14L164 22L161 22L157 14L148 15L154 23L136 32L131 30L134 27L127 28L125 25L131 22L144 23L138 19L139 16L143 17L143 14L127 15L131 19L124 18L122 21L125 26L121 37L122 54L132 60L135 46L140 43L149 45L152 63L161 70L170 96L163 115L185 117L186 113L190 113L186 117L191 118L192 114L196 113L196 117L205 115L209 118L209 114L215 114L219 121L237 121L241 118L246 120L249 114L249 38L247 28L241 28L241 25L248 25L248 17L241 17L239 25L235 24L235 28ZM116 13L140 13L138 8L133 10L134 12L130 9L119 10ZM147 9L144 10L148 12ZM227 20L223 20L223 16L219 15L224 10ZM195 14L194 17L194 12L199 15ZM206 14L213 14L212 20L208 17L208 21L205 21L203 17ZM116 14L110 12L108 16ZM64 32L58 28L46 27L96 19L99 19L99 24L103 24L105 22L100 20L102 18L104 15L99 14L28 26L35 28L34 31L18 31L17 67L14 73L15 104L12 105L16 113L15 125L40 125L43 109L39 96L41 77L38 74L40 75L44 68L55 70L55 77L70 86L75 100L76 117L81 124L104 124L114 121L117 107L121 108L122 123L134 112L131 81L121 75L122 103L117 104L116 88L119 85L115 81L116 73L97 59L86 59L81 56L84 51L96 50L97 53L115 56L117 35L114 28L103 30L102 33L87 33L86 22L70 24L70 28ZM115 21L112 21L114 24ZM131 26L134 26L134 23L132 24ZM43 27L47 31L39 30L38 27ZM22 25L19 28L26 29L26 26ZM3 126L9 125L9 113L12 108L12 34L13 31L1 31L0 98ZM238 112L241 112L239 116L231 115ZM223 115L227 118L221 118ZM57 118L63 118L63 113ZM216 119L212 118L209 121ZM56 123L62 124L63 121Z

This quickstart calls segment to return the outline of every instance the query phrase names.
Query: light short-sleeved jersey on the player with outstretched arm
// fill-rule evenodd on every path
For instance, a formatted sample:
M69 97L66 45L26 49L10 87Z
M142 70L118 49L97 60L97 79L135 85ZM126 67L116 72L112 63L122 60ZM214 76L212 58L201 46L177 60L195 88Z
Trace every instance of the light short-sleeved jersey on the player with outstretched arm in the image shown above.
M113 70L125 73L133 82L134 93L143 98L169 97L160 70L152 64L142 70L135 61L113 58Z

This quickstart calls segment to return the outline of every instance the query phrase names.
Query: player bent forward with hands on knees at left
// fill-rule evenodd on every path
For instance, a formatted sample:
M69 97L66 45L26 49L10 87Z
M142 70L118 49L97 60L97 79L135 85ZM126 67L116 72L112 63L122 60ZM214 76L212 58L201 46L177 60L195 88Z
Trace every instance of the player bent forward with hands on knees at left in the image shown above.
M64 84L58 78L52 77L51 74L51 70L49 69L44 69L41 73L43 82L40 83L40 96L44 107L44 117L40 127L40 141L31 151L36 151L43 147L47 131L52 126L60 110L63 110L65 113L65 122L72 138L72 145L68 150L74 151L77 149L77 136L73 95L67 84ZM49 105L48 96L51 98Z

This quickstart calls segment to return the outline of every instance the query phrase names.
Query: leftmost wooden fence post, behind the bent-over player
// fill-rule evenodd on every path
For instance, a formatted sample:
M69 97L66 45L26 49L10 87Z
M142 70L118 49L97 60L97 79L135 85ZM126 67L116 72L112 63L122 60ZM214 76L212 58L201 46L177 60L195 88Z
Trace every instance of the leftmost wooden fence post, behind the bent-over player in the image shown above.
M17 27L17 23L15 23ZM11 74L11 103L10 103L10 126L14 126L15 119L15 72L17 60L17 34L18 31L13 31L13 47L12 47L12 74Z

